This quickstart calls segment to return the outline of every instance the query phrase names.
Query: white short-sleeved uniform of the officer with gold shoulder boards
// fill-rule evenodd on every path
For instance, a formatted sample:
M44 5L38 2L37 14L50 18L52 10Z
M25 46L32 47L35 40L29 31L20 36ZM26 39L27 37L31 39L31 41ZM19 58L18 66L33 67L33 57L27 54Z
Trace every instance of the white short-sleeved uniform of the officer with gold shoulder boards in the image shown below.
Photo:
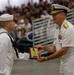
M69 27L65 28L65 24ZM60 39L59 35L61 36ZM69 47L67 53L62 56L60 75L74 75L74 26L67 20L63 22L60 30L56 30L53 45L57 51L62 47Z

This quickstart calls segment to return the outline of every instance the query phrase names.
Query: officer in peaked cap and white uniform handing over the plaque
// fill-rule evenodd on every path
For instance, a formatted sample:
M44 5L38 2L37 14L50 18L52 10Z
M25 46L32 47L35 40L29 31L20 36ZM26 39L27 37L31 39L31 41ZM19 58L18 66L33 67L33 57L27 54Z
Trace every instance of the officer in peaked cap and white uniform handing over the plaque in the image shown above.
M58 25L55 31L55 39L52 46L37 45L37 48L47 50L53 54L47 57L40 56L39 62L60 59L60 75L74 75L74 26L66 20L69 9L59 4L52 4L51 15L53 21Z

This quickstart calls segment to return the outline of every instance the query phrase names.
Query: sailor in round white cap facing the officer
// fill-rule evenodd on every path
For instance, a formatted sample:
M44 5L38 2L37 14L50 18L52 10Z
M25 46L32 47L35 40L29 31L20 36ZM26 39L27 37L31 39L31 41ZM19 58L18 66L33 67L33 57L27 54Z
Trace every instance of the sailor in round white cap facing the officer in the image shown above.
M8 34L13 31L14 25L13 15L0 16L0 75L11 75L14 48Z

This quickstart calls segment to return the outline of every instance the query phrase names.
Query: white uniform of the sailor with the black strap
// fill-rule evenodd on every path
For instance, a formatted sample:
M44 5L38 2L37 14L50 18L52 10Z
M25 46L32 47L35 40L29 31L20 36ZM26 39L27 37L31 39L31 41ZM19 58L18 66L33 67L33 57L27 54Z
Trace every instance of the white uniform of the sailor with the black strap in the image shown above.
M7 32L5 29L1 28L1 32ZM10 75L13 60L14 60L14 48L10 37L6 33L0 34L0 75Z

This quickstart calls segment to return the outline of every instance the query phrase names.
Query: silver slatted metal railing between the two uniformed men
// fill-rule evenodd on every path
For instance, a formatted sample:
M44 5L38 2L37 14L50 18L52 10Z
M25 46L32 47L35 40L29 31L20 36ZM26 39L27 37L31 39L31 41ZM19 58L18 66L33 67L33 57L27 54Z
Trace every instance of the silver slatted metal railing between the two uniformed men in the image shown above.
M53 42L56 27L49 18L40 18L33 21L33 46L37 44L48 45Z

